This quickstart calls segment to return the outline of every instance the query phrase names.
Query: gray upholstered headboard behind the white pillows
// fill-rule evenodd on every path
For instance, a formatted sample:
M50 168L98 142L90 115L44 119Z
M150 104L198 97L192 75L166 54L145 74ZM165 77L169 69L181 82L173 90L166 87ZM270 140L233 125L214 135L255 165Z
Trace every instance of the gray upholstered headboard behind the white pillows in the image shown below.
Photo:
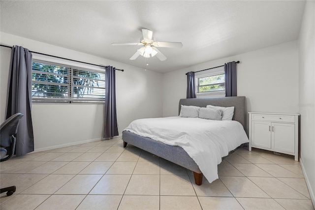
M245 96L220 97L220 98L201 98L201 99L181 99L179 101L179 112L181 105L195 105L206 107L207 105L216 106L234 106L233 120L240 122L243 127L246 127L245 122Z

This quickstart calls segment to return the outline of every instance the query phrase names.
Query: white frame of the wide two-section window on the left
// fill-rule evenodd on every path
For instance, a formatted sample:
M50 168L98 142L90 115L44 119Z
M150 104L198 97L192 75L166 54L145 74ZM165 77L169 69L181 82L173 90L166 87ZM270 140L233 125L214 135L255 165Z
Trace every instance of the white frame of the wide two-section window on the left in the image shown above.
M68 61L68 60L64 60L64 59L59 59L59 58L52 58L49 56L45 56L45 55L33 55L32 56L32 62L38 62L38 63L44 63L44 64L52 64L52 65L60 65L62 67L68 67L70 68L71 72L68 75L68 80L71 83L68 83L67 86L68 88L72 88L73 84L72 84L72 80L73 80L73 75L72 75L72 71L73 69L75 70L86 70L86 71L92 71L92 72L96 72L96 73L102 73L104 74L104 80L101 81L105 81L105 69L101 68L101 67L97 67L97 66L93 66L93 65L89 65L89 64L82 64L79 62L74 62L74 61ZM32 80L32 84L33 84L33 80ZM58 83L57 83L58 84ZM75 85L74 85L75 86ZM105 92L106 92L106 83L105 83L105 87L104 87L104 99L84 99L84 98L73 98L74 94L69 93L70 90L68 90L68 94L70 94L70 96L68 95L66 98L40 98L40 99L34 99L32 97L32 104L103 104L105 103ZM101 88L103 89L103 88ZM71 90L72 92L72 90ZM72 96L71 96L72 95Z

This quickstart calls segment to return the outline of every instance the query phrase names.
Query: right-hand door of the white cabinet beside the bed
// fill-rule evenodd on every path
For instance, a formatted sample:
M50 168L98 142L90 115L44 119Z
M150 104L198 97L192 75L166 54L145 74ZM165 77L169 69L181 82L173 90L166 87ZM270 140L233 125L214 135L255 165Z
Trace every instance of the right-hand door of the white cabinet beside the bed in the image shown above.
M271 123L272 145L274 150L294 153L295 125Z

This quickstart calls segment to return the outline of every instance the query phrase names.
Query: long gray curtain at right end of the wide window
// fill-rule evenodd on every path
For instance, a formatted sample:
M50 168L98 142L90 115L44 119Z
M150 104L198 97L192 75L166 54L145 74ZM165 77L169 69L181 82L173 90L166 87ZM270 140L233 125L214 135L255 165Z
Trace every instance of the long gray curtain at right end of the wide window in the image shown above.
M105 67L105 127L104 138L118 136L117 113L116 113L116 87L115 87L115 68Z

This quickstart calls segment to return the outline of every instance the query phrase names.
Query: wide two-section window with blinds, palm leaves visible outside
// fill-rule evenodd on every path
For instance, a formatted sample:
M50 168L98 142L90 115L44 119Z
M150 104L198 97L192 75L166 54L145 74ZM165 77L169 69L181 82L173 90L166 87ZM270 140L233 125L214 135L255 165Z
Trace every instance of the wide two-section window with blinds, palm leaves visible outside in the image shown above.
M33 102L104 102L105 70L33 60Z

